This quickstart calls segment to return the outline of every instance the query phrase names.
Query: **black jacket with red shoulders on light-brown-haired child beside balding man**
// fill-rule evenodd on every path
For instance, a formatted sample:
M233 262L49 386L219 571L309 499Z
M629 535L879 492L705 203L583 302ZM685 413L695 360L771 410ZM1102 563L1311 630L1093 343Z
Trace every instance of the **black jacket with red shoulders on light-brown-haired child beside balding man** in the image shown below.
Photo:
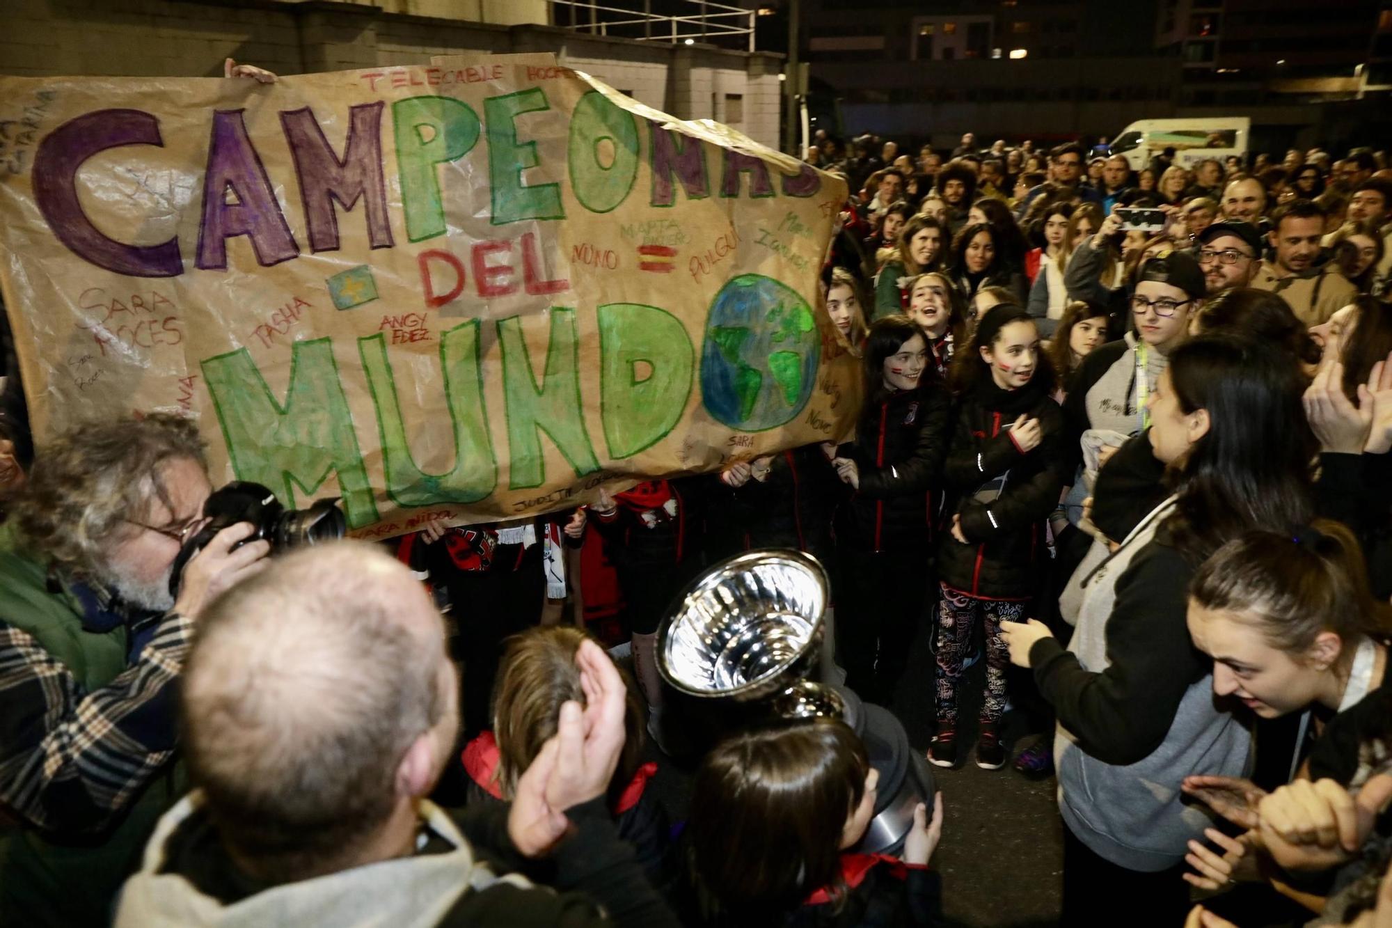
M504 803L497 782L498 743L484 732L464 745L464 769L469 775L468 805ZM622 787L610 790L608 807L618 836L632 844L639 865L657 881L667 867L670 822L663 804L647 790L657 773L656 764L643 764Z

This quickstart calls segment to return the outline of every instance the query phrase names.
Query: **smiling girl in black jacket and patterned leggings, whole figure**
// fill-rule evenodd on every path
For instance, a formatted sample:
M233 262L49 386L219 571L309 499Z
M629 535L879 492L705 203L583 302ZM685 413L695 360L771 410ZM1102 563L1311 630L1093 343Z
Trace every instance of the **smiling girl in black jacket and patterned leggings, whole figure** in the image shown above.
M958 762L966 734L956 711L958 687L981 623L987 691L976 764L994 771L1006 757L998 729L1009 666L1001 621L1029 614L1048 560L1044 520L1066 482L1063 415L1050 396L1054 368L1040 348L1038 330L1018 305L1001 304L981 318L954 362L952 386L958 414L944 468L949 517L937 549L938 730L928 759L938 766Z

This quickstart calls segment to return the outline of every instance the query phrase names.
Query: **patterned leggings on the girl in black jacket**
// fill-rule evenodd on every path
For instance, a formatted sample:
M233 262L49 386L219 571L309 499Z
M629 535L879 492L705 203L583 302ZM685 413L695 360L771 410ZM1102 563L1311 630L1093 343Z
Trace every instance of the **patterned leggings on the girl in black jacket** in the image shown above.
M962 679L962 663L972 652L972 630L976 617L986 620L986 701L981 704L981 723L995 725L1005 712L1005 669L1011 666L1011 651L1001 638L1002 621L1023 621L1029 601L974 599L938 584L938 722L956 723L956 691Z

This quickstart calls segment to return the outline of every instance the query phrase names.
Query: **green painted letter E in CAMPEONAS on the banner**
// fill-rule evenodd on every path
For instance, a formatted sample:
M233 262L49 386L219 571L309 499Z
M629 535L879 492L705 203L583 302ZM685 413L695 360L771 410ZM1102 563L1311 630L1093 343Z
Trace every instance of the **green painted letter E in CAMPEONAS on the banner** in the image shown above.
M522 113L548 110L541 88L490 96L483 102L489 132L489 183L493 185L493 224L503 226L523 219L565 219L560 184L523 184L522 171L541 159L536 142L518 142L516 117Z

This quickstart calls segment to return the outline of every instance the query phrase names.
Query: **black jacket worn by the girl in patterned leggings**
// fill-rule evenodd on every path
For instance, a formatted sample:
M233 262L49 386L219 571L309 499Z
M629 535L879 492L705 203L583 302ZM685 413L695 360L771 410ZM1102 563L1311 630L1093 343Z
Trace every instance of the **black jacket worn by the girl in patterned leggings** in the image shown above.
M1040 421L1043 439L1022 454L1009 428L1020 417ZM1044 520L1058 506L1068 484L1062 443L1063 414L1041 383L1002 390L990 379L976 385L958 405L952 450L944 467L951 493L938 534L938 578L983 599L1025 599L1038 585L1048 560ZM976 493L1004 477L990 503ZM952 516L962 516L962 534L952 538Z

